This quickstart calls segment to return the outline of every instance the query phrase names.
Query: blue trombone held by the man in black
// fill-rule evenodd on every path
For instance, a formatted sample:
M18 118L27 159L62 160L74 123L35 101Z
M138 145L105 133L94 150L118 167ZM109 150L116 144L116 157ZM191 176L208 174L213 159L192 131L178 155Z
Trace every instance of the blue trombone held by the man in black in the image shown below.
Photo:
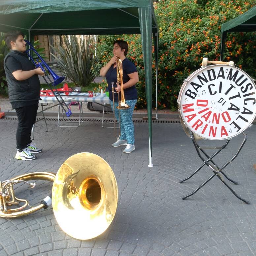
M46 77L48 78L48 80L50 81L50 83L48 83L48 81L46 80L45 77L44 80L45 82L48 84L50 90L52 91L53 95L55 95L57 101L59 102L60 106L62 107L63 111L66 113L67 117L71 116L72 112L69 109L69 107L67 106L66 102L62 99L61 95L59 94L59 92L57 90L53 91L53 86L58 85L59 83L61 83L65 77L59 77L58 75L56 75L51 68L46 64L46 62L44 61L44 59L39 55L39 53L36 51L36 49L30 44L30 42L28 42L27 40L25 40L25 42L27 43L27 45L29 45L29 49L26 50L26 53L28 54L29 58L33 61L34 65L36 66L36 68L40 67L44 72ZM33 50L36 55L39 57L39 59L41 60L41 62L39 62L39 59L37 59L38 64L34 61L34 59L31 57L31 55L29 54L30 50ZM46 73L46 70L43 68L42 63L44 64L44 66L47 68L48 72L51 74L52 78L53 78L53 82L50 80L48 74ZM57 95L58 94L58 98ZM60 101L61 100L61 101ZM64 106L66 107L66 109L64 108Z

